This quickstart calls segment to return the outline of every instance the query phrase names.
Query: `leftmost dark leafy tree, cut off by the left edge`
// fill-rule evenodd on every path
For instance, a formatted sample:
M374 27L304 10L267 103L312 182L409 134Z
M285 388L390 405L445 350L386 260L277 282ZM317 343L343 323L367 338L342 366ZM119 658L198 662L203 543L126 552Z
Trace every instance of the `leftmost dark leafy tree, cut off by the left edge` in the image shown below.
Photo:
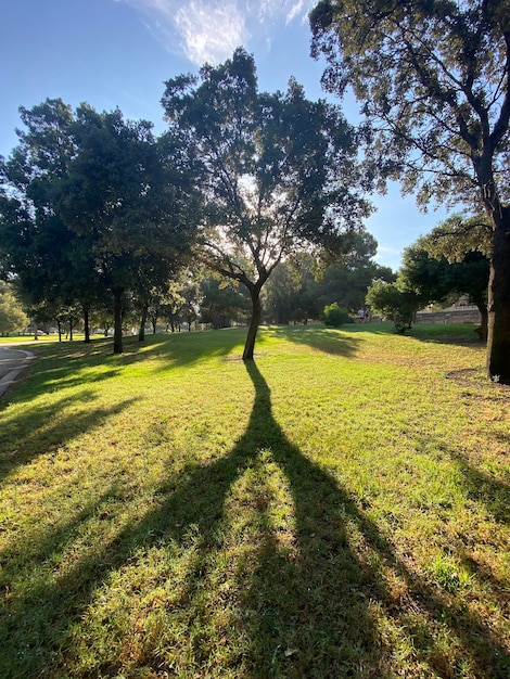
M97 293L93 255L54 209L54 188L75 153L73 114L60 100L47 100L21 107L21 116L27 129L17 131L20 144L0 169L0 269L27 306L44 307L55 320L80 307L87 341Z

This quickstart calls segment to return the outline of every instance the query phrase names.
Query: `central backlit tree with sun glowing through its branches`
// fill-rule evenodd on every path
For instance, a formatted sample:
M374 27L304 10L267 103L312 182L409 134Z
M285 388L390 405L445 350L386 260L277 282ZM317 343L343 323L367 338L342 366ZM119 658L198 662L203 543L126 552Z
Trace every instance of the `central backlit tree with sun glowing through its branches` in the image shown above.
M354 193L357 136L337 106L307 101L292 79L285 93L258 92L254 61L241 49L199 77L168 80L162 103L196 159L205 203L199 257L250 292L243 359L253 359L260 291L278 264L305 247L342 247L369 213Z

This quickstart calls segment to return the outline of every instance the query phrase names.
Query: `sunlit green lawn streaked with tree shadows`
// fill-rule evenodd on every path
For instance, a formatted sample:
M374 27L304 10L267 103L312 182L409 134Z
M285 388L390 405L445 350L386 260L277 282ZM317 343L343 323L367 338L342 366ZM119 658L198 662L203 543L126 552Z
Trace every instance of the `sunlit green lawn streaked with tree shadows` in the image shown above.
M0 676L510 676L472 326L44 343L0 401Z

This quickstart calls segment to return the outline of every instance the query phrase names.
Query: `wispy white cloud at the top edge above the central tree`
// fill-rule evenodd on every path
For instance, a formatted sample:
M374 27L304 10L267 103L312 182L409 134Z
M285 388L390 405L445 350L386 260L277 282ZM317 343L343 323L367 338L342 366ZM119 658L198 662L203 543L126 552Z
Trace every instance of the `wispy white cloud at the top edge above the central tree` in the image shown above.
M117 0L118 1L118 0ZM271 43L278 22L306 16L314 0L123 0L143 13L151 33L170 52L217 64L253 39Z

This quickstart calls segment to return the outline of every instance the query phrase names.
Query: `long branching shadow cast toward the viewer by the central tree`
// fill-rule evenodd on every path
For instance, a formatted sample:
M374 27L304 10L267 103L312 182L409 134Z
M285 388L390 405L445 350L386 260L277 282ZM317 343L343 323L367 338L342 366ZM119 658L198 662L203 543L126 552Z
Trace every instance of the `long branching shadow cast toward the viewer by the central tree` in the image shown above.
M435 672L446 678L456 671L442 665L435 637L439 625L446 625L461 646L474 668L473 677L508 676L508 655L490 629L410 571L356 497L289 440L272 413L264 376L253 362L246 363L246 370L255 400L247 428L228 454L168 477L160 488L157 503L143 518L126 525L110 542L99 541L101 547L69 565L61 577L35 579L10 602L0 627L2 676L63 676L65 663L77 653L72 628L93 605L98 588L143 549L171 551L176 546L186 547L190 535L195 556L180 585L179 606L192 610L201 584L217 567L211 554L227 539L225 522L232 488L245 473L264 471L269 463L288 483L295 517L294 543L282 543L269 511L270 494L264 483L258 488L255 482L253 510L258 514L259 536L251 542L250 566L237 575L241 613L231 620L232 629L243 632L246 643L235 659L238 665L229 667L231 676L393 677L391 649L385 648L379 628L381 616L393 619L396 628L407 626L413 653L430 676ZM67 539L73 530L65 526L61 535ZM51 559L52 550L59 549L54 536L46 536L34 548L34 560ZM390 572L405 584L401 601L388 589ZM406 622L409 611L420 611L430 625L412 627ZM189 653L191 665L186 676L200 676L211 666L207 644L191 644ZM10 663L12 657L16 657L15 665ZM146 651L143 665L155 676L174 672L170 663L165 665L161 648ZM123 661L116 658L95 665L87 676L119 676L123 670Z

